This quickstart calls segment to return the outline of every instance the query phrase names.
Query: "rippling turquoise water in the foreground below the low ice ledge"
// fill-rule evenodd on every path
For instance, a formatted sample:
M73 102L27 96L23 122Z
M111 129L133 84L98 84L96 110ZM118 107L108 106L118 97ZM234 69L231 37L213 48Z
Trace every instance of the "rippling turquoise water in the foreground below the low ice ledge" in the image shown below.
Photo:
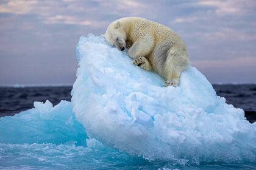
M87 139L87 143L88 147L0 143L0 169L157 169L163 166L161 161L152 164L93 139Z

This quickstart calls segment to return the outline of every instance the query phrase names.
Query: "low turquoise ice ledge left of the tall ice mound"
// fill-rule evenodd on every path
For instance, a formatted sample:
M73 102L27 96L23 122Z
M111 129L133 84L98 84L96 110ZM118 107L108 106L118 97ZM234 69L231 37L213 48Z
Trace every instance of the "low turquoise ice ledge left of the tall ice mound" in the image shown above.
M84 126L73 114L71 103L35 102L29 109L13 117L0 118L0 143L52 143L85 146Z

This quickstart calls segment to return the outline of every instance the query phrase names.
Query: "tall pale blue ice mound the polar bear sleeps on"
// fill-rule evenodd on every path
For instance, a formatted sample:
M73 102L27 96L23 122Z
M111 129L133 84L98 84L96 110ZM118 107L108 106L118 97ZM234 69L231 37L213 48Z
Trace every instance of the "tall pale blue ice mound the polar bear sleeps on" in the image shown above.
M255 161L256 123L196 68L182 73L179 87L164 87L94 35L80 38L77 60L71 103L91 138L150 160Z

